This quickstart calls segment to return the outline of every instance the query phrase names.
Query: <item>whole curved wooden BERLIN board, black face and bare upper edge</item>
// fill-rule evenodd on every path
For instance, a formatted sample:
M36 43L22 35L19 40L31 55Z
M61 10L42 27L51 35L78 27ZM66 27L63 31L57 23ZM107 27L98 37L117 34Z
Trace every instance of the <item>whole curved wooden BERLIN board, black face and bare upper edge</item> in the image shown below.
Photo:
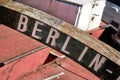
M63 53L104 80L120 80L120 52L72 25L17 2L0 6L0 23Z

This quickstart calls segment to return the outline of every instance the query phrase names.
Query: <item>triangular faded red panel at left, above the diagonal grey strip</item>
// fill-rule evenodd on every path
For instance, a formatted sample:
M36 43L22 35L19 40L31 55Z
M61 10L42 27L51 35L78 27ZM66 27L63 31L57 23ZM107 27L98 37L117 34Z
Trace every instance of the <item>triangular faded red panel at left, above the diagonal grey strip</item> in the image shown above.
M15 30L0 25L0 62L42 45Z

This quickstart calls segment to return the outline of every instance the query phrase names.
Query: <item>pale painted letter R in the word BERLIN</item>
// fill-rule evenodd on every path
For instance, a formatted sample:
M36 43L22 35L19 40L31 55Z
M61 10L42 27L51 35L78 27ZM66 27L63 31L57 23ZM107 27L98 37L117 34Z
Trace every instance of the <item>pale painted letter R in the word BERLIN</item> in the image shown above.
M59 38L59 36L60 36L60 33L56 29L51 28L49 35L47 37L46 43L48 44L51 41L50 45L56 46L56 39Z

